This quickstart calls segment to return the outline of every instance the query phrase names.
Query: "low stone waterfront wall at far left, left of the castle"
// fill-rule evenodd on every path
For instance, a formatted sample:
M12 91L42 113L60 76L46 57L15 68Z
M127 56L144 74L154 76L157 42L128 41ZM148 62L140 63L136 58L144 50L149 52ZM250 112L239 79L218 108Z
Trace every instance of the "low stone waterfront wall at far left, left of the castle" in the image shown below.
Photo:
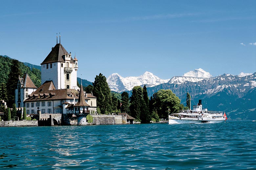
M0 121L0 127L38 126L37 120Z

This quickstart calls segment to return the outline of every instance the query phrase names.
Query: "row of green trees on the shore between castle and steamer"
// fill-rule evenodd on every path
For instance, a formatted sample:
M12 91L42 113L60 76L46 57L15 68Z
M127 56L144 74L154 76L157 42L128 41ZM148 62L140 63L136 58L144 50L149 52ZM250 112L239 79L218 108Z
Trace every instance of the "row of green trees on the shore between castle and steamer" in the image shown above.
M159 90L151 98L148 97L147 88L135 86L132 95L127 92L111 92L106 77L101 73L95 77L93 85L84 89L92 92L97 97L97 113L129 113L141 123L159 122L160 119L168 119L169 113L187 109L181 104L181 100L171 90Z

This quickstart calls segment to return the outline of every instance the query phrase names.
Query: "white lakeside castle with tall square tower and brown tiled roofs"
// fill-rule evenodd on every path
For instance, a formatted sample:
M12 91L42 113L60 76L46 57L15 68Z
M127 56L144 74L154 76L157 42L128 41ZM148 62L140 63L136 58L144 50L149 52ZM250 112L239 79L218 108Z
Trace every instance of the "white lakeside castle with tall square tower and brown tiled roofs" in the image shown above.
M82 85L81 88L77 86L77 70L76 56L73 59L71 53L57 43L41 63L40 87L34 85L28 74L19 77L16 106L26 107L27 116L39 111L41 114L75 114L80 108L83 113L96 114L96 97L92 92L84 93Z

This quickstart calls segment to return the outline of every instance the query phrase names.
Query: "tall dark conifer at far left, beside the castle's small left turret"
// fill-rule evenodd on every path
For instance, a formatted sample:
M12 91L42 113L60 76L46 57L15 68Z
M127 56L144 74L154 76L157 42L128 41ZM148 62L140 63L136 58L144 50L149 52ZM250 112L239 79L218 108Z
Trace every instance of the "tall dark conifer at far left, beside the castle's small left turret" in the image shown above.
M17 83L19 80L19 76L21 76L21 70L19 67L19 61L13 59L11 62L11 71L9 74L7 87L8 87L8 107L11 107L13 103L15 103L15 89L17 88Z

